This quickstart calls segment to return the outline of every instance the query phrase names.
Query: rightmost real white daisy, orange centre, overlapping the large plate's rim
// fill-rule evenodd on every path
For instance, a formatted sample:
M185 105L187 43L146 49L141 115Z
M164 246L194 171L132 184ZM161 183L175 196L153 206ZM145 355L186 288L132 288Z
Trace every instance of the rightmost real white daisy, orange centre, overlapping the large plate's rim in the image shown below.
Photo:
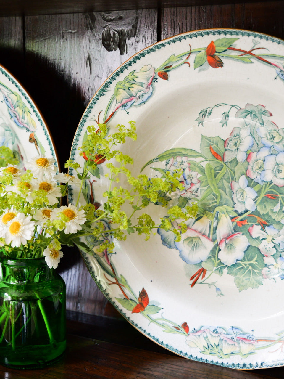
M78 208L72 204L69 204L68 207L66 205L62 205L62 207L55 209L55 212L59 218L62 215L65 216L65 219L67 219L64 229L65 234L76 233L77 230L81 230L81 225L83 225L87 220L85 217L85 212L83 210L79 211Z

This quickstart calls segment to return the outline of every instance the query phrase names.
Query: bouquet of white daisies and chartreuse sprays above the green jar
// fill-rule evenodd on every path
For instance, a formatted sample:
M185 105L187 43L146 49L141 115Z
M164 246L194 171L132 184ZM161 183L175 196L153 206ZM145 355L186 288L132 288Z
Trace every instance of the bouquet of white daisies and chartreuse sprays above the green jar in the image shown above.
M133 162L132 159L115 149L125 143L126 138L136 139L132 121L130 127L118 125L117 132L113 134L109 134L105 124L89 127L80 148L84 167L73 161L66 163L66 167L75 171L76 176L57 174L54 159L42 155L29 160L25 170L11 163L0 168L2 254L10 258L44 256L47 265L56 268L63 256L60 249L64 244L76 244L80 249L94 254L81 237L95 241L98 254L103 251L111 254L114 249L112 239L125 240L127 233L144 234L147 240L157 227L175 230L172 227L174 220L175 226L178 224L181 231L186 230L184 221L196 215L194 206L184 210L176 206L169 208L168 216L161 219L161 225L156 225L151 216L143 212L150 203L162 207L168 205L168 194L181 189L179 170L165 172L162 178L148 178L147 175L133 177L126 168ZM106 200L102 209L90 202L78 207L81 193L86 194L86 183L91 175L98 175L98 165L104 162L108 170L105 176L110 184L104 193ZM126 183L123 187L119 185L122 178ZM76 205L59 207L68 185L79 188ZM139 215L132 224L136 212ZM106 227L110 224L112 228Z

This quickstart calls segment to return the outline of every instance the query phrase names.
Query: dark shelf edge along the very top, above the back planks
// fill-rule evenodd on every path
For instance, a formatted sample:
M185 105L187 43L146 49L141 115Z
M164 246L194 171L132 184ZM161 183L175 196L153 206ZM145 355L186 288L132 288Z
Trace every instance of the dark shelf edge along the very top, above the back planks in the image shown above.
M249 0L256 2L257 0ZM266 0L269 2L269 0ZM2 0L1 16L79 13L98 11L122 11L123 9L147 9L173 6L193 6L209 4L233 4L238 0Z

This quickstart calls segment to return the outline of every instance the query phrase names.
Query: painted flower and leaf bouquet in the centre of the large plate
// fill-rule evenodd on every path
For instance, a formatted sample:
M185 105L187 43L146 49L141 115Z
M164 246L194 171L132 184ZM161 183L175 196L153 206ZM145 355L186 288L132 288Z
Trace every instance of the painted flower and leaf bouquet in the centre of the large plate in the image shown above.
M172 231L158 230L162 244L196 266L191 286L217 288L226 269L243 291L284 279L284 132L263 105L211 109L221 106L237 109L234 117L242 124L228 138L202 135L200 150L167 150L145 166L160 173L157 161L165 161L164 172L181 168L184 189L171 194L172 201L198 204L199 215L187 221L180 241Z

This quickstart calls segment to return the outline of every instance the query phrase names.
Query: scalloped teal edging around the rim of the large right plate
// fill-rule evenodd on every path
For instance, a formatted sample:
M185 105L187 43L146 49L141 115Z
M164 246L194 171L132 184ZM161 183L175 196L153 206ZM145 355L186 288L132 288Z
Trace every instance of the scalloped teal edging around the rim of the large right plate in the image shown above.
M209 36L209 35L212 35L212 36L216 36L216 35L217 36L220 36L220 35L225 35L225 36L226 35L229 35L229 36L248 36L248 37L265 39L266 41L275 42L278 45L284 45L284 41L281 40L281 39L274 38L274 37L268 36L266 34L255 33L253 31L237 30L237 29L208 29L208 30L198 30L198 31L195 31L195 32L192 32L192 33L190 33L190 32L189 33L184 33L184 34L178 35L176 37L166 39L165 41L158 42L157 44L155 44L153 46L150 46L150 47L142 50L137 55L135 55L132 58L130 58L130 60L126 61L118 70L116 70L112 74L112 76L109 77L109 79L101 86L101 88L98 90L98 92L92 98L92 100L89 103L89 105L87 106L87 108L86 108L86 110L85 110L85 112L84 112L84 114L82 116L82 119L80 121L80 124L78 125L78 128L76 130L74 141L73 141L73 145L72 145L72 149L71 149L71 152L70 152L70 159L74 160L74 158L75 158L75 153L76 153L77 148L78 148L78 141L79 141L81 132L83 131L84 124L87 121L88 116L91 113L92 109L94 108L94 105L97 103L97 101L100 99L101 96L105 95L105 93L107 92L107 89L109 88L109 86L119 77L120 74L122 74L124 72L125 69L127 69L129 66L132 66L133 63L136 63L137 61L139 61L141 57L144 57L147 54L151 54L151 53L155 52L156 50L160 50L163 47L165 47L166 45L170 45L170 44L176 43L176 42L181 42L181 41L183 41L183 40L185 40L187 38L191 39L191 38L195 38L195 37L203 37L203 36ZM69 202L72 202L72 189L69 189L68 199L69 199ZM115 307L115 309L131 325L133 325L134 327L136 327L136 329L138 329L141 333L145 334L151 340L153 340L156 343L158 343L158 345L161 345L164 348L166 348L166 349L168 349L168 350L170 350L170 351L172 351L172 352L174 352L174 353L176 353L176 354L178 354L178 355L180 355L182 357L185 357L185 358L188 358L188 359L191 359L191 360L195 360L197 362L211 363L212 365L217 365L217 366L222 366L222 367L228 367L228 368L250 370L250 369L256 369L256 368L271 368L271 367L283 366L284 365L284 360L278 362L278 364L276 364L276 363L269 364L269 363L265 363L265 362L261 362L261 363L257 363L256 362L255 365L252 364L252 363L250 363L250 364L246 364L246 363L243 363L243 364L240 364L240 363L223 363L223 362L220 363L220 362L216 362L216 361L209 360L209 359L203 359L203 358L194 357L194 356L189 355L189 354L187 354L187 353L185 353L185 352L183 352L181 350L173 348L173 346L170 346L170 345L164 343L163 341L160 341L159 338L151 335L145 329L142 329L142 327L140 327L138 324L134 323L134 321L131 320L123 312L123 310L119 308L119 306L115 303L115 301L113 301L113 299L109 296L109 294L106 292L106 290L102 287L102 285L100 283L100 280L97 279L97 276L95 275L95 272L94 272L93 268L91 267L91 265L89 264L89 262L87 260L86 253L84 253L84 252L81 251L81 255L82 255L82 257L83 257L83 259L84 259L84 261L86 263L86 266L87 266L87 269L89 270L89 273L91 274L92 278L95 280L98 288L101 290L101 292L108 299L108 301L111 302L111 304Z

